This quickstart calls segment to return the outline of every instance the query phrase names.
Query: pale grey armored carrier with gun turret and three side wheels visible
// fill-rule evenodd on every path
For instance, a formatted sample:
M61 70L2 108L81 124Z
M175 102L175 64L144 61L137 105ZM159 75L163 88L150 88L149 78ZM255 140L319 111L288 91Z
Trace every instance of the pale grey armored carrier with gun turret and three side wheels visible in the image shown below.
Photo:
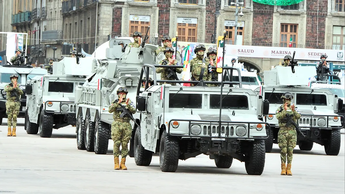
M125 45L131 42L130 39L110 39L109 48L106 48L106 59L99 60L99 66L86 78L86 82L77 86L75 99L78 149L86 149L96 154L107 153L113 122L108 108L118 98L116 90L126 87L127 98L135 103L137 87L141 87L141 67L144 64L156 64L164 58L162 52L156 57L155 51L158 47L145 44L145 39L139 48L126 47L125 52L121 51L122 47L118 45L118 41L123 41ZM180 56L177 56L177 60L181 62ZM143 90L144 88L141 88L141 91ZM133 116L139 122L139 114ZM132 126L135 127L134 123Z

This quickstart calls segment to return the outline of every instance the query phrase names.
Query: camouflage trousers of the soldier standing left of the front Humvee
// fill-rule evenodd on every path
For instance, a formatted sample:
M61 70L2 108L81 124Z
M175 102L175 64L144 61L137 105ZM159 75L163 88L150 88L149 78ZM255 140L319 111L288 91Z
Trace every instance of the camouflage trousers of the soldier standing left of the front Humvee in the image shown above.
M122 146L121 157L126 158L128 142L132 135L132 126L129 122L114 121L111 124L111 139L114 141L114 157L119 157L120 145Z

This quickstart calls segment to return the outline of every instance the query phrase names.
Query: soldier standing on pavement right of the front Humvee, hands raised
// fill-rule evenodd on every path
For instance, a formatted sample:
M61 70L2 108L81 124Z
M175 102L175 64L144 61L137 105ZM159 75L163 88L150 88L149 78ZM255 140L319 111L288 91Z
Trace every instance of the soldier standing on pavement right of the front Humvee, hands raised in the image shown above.
M288 123L286 114L297 124L297 120L301 117L295 104L291 105L291 100L294 99L292 94L286 92L280 98L283 99L284 105L276 110L276 117L279 123L278 132L278 146L280 148L280 160L282 161L282 172L280 175L292 175L291 162L293 157L293 149L297 143L297 132L295 127ZM287 159L287 165L285 166Z

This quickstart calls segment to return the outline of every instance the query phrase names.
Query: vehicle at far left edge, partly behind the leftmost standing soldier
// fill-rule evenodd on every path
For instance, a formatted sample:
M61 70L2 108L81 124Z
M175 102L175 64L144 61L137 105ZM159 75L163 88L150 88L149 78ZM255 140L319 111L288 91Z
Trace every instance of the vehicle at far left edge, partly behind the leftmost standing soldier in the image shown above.
M7 61L6 56L4 57L4 64L0 66L0 125L2 124L2 118L7 118L6 114L6 92L4 91L4 87L7 84L11 83L10 76L12 74L18 75L18 86L20 89L23 90L25 94L25 83L27 80L32 79L35 76L43 76L48 74L46 69L41 69L37 67L33 67L30 65L24 66L15 66L10 65ZM27 63L29 64L29 63ZM18 118L25 117L25 110L26 110L26 96L20 95L20 109Z

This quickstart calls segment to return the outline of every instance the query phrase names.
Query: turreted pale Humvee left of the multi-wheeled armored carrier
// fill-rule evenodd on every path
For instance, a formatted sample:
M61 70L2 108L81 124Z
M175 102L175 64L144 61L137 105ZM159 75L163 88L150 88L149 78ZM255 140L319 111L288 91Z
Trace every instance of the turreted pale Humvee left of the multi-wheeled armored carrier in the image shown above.
M65 57L53 62L52 75L28 80L26 132L37 134L39 131L40 137L51 137L53 129L75 125L75 88L84 83L96 66L96 59Z

